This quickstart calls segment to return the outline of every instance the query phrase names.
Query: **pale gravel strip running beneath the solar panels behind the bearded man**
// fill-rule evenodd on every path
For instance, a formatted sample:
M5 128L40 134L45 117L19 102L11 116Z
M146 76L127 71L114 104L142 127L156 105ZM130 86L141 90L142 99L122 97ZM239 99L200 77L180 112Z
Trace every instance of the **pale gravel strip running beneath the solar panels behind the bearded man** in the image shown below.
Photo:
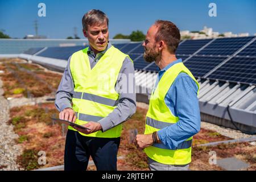
M148 109L148 104L145 104L143 102L137 102L137 107L141 107L142 109ZM201 121L201 128L216 131L221 135L224 135L226 137L233 138L233 139L256 137L256 135L244 134L238 130L229 129L226 127L214 125L212 123L208 123L204 121Z

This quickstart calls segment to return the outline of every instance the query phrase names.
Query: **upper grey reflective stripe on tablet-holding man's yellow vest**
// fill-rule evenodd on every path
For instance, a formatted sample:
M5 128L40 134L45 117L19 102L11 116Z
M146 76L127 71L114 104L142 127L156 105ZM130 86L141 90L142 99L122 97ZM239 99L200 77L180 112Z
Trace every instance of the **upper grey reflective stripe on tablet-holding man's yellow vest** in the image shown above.
M112 100L110 98L96 96L94 94L85 93L85 92L73 92L73 98L81 98L84 100L89 100L89 101L97 102L100 104L105 104L108 106L115 106L117 105L117 101L118 101L118 100Z

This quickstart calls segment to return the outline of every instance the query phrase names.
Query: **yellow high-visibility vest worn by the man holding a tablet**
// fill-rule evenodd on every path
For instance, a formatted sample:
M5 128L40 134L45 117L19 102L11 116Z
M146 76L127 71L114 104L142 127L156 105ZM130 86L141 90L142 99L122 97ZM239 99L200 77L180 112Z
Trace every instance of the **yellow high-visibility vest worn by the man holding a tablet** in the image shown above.
M115 91L115 83L123 60L129 57L112 46L91 69L87 51L88 47L73 53L70 61L74 82L72 108L77 115L75 123L79 125L98 122L117 107L119 94ZM71 126L68 129L75 130ZM122 125L117 125L105 132L79 133L88 137L117 138L121 130Z

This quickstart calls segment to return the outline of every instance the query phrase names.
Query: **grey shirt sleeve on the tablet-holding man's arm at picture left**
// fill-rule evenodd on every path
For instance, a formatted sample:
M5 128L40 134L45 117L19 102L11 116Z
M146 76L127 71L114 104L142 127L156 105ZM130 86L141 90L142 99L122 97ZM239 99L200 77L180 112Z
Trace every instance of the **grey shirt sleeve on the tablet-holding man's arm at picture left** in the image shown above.
M72 96L74 90L74 82L71 75L70 65L71 57L68 59L67 67L64 70L60 85L55 96L55 106L57 110L62 111L65 108L72 108Z

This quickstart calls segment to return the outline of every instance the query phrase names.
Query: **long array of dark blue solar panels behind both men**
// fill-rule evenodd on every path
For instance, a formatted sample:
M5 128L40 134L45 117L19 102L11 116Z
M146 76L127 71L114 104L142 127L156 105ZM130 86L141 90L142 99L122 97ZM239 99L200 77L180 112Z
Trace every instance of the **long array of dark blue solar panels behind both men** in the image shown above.
M155 63L143 59L142 42L113 44L127 53L137 70L158 72ZM73 52L83 49L75 47L48 47L38 56L68 60ZM29 49L33 55L42 48ZM182 59L195 77L218 79L230 82L256 84L256 37L184 40L176 50L177 59Z

